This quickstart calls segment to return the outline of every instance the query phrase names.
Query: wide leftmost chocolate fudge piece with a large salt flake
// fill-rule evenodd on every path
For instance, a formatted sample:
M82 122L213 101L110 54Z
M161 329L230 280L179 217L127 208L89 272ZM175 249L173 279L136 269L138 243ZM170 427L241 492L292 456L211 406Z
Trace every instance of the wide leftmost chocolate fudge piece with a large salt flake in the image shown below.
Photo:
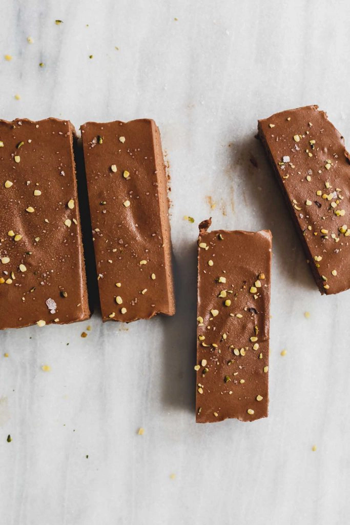
M69 121L0 121L0 329L90 317Z

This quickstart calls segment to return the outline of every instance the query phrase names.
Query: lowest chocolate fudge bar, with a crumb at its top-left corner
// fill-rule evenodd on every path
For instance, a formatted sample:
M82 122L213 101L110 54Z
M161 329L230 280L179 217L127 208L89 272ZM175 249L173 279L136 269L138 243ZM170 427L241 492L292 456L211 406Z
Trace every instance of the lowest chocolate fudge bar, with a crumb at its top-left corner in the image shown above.
M199 225L196 422L267 417L271 233Z

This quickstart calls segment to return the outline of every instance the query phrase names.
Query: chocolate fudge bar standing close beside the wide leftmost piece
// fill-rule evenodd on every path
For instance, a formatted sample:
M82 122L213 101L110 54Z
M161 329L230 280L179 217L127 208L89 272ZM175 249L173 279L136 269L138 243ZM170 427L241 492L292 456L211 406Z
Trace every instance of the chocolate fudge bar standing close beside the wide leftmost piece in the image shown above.
M153 120L81 126L103 321L172 316L167 180Z

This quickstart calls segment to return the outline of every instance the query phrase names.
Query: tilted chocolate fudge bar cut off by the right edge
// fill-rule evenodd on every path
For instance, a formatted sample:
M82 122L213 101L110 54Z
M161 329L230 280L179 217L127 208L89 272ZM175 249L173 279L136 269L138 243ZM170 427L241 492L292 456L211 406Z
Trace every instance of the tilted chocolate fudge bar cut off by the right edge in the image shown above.
M342 135L317 106L259 120L258 131L320 292L347 290L350 165Z

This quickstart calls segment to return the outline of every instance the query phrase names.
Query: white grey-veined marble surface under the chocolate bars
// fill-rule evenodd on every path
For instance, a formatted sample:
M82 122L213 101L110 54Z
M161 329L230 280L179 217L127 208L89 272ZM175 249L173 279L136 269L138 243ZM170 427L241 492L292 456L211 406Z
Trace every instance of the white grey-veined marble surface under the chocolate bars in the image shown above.
M254 133L318 103L349 145L349 16L347 0L1 3L1 118L160 126L177 289L171 319L0 334L1 525L348 522L350 292L317 291ZM252 424L194 422L197 227L183 216L209 214L274 236L270 416Z

